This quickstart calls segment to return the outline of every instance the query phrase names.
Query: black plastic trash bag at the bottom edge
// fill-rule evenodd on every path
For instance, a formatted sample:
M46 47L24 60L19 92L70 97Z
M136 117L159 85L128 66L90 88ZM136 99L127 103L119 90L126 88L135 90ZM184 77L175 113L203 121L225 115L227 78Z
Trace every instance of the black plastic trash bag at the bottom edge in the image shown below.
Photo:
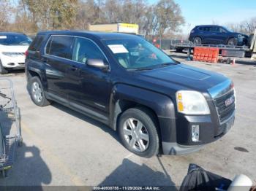
M187 190L227 190L230 179L205 171L199 165L189 164L187 176L183 179L180 191Z

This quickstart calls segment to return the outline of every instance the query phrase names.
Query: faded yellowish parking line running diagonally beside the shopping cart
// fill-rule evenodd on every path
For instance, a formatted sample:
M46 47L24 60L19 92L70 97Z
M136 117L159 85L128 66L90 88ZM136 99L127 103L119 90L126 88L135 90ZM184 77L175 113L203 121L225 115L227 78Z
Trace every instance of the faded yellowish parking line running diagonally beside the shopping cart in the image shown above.
M48 158L50 158L50 160L56 166L59 167L60 171L62 171L64 174L70 177L71 182L73 182L75 186L80 186L84 184L84 182L80 179L80 177L76 176L75 174L72 174L72 171L69 168L67 168L67 165L65 165L59 157L53 154L53 152L50 152L50 147L46 145L45 142L41 141L39 137L30 128L28 128L28 126L24 122L20 122L20 123L22 125L22 130L24 130L29 136L35 139L35 141L37 142L37 144L35 143L35 145L40 145L41 149L43 147L43 152L45 153L45 155L47 155Z

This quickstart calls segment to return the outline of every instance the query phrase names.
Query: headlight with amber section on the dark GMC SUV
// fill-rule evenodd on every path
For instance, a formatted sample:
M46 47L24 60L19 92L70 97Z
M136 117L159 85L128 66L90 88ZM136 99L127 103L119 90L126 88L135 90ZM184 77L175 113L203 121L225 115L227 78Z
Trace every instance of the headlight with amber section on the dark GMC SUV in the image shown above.
M202 93L190 90L176 92L178 112L184 114L210 114L206 98Z

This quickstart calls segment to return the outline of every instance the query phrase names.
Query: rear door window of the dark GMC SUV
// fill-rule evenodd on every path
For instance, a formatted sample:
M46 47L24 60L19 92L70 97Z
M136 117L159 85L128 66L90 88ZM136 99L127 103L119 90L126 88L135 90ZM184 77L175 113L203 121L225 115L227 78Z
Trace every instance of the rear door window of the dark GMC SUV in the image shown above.
M72 36L51 36L46 46L46 53L48 55L71 59L73 39L74 37Z

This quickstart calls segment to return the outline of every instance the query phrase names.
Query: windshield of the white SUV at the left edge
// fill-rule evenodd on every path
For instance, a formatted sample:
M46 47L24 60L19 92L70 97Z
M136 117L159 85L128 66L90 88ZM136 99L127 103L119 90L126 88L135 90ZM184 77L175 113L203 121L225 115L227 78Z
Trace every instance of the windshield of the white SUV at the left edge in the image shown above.
M0 34L0 44L13 46L13 45L29 45L31 43L31 39L22 34Z

